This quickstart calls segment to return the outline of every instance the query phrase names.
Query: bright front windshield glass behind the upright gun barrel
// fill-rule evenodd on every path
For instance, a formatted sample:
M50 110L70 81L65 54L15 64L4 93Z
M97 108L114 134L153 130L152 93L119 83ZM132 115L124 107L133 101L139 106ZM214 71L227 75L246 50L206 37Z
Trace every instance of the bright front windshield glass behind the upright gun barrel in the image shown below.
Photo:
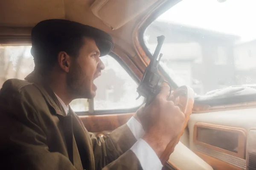
M221 0L224 1L224 0ZM196 94L256 84L256 0L182 0L145 30L153 53L166 37L160 66Z

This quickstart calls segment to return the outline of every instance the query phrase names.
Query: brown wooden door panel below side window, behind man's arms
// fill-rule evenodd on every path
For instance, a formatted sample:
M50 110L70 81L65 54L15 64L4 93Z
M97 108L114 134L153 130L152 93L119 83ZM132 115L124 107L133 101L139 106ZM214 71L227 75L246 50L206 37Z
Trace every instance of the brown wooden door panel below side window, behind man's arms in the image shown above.
M79 116L89 132L102 132L115 130L124 125L134 113L108 114L108 115L85 115Z

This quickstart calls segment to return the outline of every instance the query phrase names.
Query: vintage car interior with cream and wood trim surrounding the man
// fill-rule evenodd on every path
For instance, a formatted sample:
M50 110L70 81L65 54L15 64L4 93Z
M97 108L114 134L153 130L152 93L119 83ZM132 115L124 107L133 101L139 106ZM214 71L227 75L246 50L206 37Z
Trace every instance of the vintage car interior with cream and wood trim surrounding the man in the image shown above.
M183 112L191 114L163 169L256 170L255 5L255 0L1 0L0 87L33 71L30 34L41 20L72 20L106 31L115 45L101 57L105 70L95 80L96 97L70 104L88 131L104 136L143 105L137 87L157 37L164 35L159 74L172 91L186 87L194 96L185 97Z

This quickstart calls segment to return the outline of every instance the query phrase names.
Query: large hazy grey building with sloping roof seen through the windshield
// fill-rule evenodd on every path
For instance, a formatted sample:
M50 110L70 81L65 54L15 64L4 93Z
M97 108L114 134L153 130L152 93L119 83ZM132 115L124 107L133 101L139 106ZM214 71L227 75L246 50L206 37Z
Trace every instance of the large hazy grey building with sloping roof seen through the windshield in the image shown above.
M145 31L150 51L162 34L163 61L184 79L181 84L197 94L237 84L233 47L239 37L156 20Z

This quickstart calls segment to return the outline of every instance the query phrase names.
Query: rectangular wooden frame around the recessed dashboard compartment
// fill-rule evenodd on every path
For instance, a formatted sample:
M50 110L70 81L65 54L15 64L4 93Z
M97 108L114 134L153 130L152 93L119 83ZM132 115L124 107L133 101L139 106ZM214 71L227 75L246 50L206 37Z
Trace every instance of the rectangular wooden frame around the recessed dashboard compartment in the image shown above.
M238 141L237 153L234 153L229 150L225 150L225 149L215 147L210 144L206 144L204 142L198 141L197 140L198 127L204 127L207 129L214 129L214 130L221 130L221 131L226 131L226 132L231 132L231 133L238 133L239 141ZM210 149L222 152L222 153L227 153L229 155L236 156L241 159L245 159L246 134L247 134L247 131L245 129L239 128L239 127L227 127L227 126L222 126L222 125L212 125L212 124L208 124L208 123L196 123L194 126L193 142L194 142L194 144L198 144L203 147L207 147L207 148L210 148Z

